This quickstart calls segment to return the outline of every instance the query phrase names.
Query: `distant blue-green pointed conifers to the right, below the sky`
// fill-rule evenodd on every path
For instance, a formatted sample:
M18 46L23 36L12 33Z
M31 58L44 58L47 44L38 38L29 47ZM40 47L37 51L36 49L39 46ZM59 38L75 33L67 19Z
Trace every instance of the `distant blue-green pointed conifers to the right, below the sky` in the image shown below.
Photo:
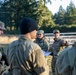
M76 7L71 1L66 10L60 6L59 11L53 16L55 23L59 25L76 24Z

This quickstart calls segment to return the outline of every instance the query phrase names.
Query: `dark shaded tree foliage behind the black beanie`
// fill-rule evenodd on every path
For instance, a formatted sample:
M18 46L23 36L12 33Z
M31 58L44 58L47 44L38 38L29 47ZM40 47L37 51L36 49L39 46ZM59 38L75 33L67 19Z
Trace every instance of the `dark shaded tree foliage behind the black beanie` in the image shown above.
M36 11L37 3L35 0L5 0L1 6L2 12L5 13L5 22L10 26L14 26L15 29L19 28L20 21L23 17L33 17ZM2 13L3 14L3 13ZM3 18L2 17L2 18ZM11 29L12 30L12 29Z

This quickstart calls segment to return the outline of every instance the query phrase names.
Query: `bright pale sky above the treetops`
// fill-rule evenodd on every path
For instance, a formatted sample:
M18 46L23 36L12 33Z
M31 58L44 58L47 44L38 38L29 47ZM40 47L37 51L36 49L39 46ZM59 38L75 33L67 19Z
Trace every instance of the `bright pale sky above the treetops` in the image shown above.
M62 7L66 9L66 7L70 4L70 1L72 1L74 5L76 5L76 0L51 0L51 1L52 4L50 5L50 3L48 3L47 7L53 14L58 12L60 5L62 5Z

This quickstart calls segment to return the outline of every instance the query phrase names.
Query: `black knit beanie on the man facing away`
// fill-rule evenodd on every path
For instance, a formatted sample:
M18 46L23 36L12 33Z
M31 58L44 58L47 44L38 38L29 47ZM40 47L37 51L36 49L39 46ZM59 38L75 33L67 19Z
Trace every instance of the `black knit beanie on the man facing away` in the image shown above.
M37 28L37 22L29 17L25 17L20 24L21 34L26 34L33 30L37 30Z

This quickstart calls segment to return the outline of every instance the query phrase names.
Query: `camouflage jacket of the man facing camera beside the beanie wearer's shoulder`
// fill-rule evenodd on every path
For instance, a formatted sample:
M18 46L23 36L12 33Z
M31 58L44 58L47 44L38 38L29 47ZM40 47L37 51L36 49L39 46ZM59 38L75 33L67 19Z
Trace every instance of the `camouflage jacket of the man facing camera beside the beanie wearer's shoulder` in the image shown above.
M46 38L42 38L42 39L36 38L34 42L37 43L41 47L42 50L46 52L49 51L49 43L46 40Z

